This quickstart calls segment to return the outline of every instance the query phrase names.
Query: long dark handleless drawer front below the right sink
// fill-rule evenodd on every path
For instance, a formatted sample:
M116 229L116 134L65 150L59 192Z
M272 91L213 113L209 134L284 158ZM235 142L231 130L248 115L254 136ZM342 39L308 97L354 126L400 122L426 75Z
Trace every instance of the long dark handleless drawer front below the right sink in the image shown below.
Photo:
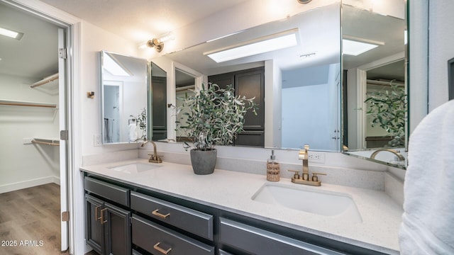
M220 220L220 242L251 254L341 254L223 217Z

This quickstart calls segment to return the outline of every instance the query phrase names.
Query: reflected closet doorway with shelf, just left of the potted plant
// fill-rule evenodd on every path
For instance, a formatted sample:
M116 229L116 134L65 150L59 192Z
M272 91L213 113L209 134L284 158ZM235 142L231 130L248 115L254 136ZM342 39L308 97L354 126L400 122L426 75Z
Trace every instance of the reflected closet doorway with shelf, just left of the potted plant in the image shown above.
M184 115L184 109L182 108L183 100L187 96L194 94L194 89L196 88L196 79L192 74L184 72L181 69L175 68L175 95L176 95L176 107L182 109L177 115L177 120L181 125L185 125L187 115ZM189 141L188 137L185 137L182 130L177 129L177 142L187 142Z

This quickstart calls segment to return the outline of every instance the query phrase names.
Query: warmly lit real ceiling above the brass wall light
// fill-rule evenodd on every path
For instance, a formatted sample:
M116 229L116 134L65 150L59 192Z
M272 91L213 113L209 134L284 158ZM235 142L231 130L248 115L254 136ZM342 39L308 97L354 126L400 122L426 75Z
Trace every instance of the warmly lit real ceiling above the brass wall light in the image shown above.
M246 0L40 0L133 42L177 30Z

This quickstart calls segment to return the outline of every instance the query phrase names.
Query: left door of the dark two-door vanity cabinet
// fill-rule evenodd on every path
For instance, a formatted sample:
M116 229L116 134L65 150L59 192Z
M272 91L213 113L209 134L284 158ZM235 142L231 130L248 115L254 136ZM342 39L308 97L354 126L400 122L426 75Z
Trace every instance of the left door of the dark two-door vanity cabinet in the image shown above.
M90 195L85 195L85 238L87 244L99 254L104 254L103 226L101 225L101 210L103 201Z

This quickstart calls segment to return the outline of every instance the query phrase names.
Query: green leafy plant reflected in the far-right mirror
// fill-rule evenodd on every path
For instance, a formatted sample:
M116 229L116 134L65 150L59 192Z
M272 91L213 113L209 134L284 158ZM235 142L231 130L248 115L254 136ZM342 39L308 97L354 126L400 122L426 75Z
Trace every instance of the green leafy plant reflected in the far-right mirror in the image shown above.
M372 127L380 125L393 139L390 146L405 145L406 93L402 86L390 81L390 89L373 91L365 100L367 114L372 115Z

